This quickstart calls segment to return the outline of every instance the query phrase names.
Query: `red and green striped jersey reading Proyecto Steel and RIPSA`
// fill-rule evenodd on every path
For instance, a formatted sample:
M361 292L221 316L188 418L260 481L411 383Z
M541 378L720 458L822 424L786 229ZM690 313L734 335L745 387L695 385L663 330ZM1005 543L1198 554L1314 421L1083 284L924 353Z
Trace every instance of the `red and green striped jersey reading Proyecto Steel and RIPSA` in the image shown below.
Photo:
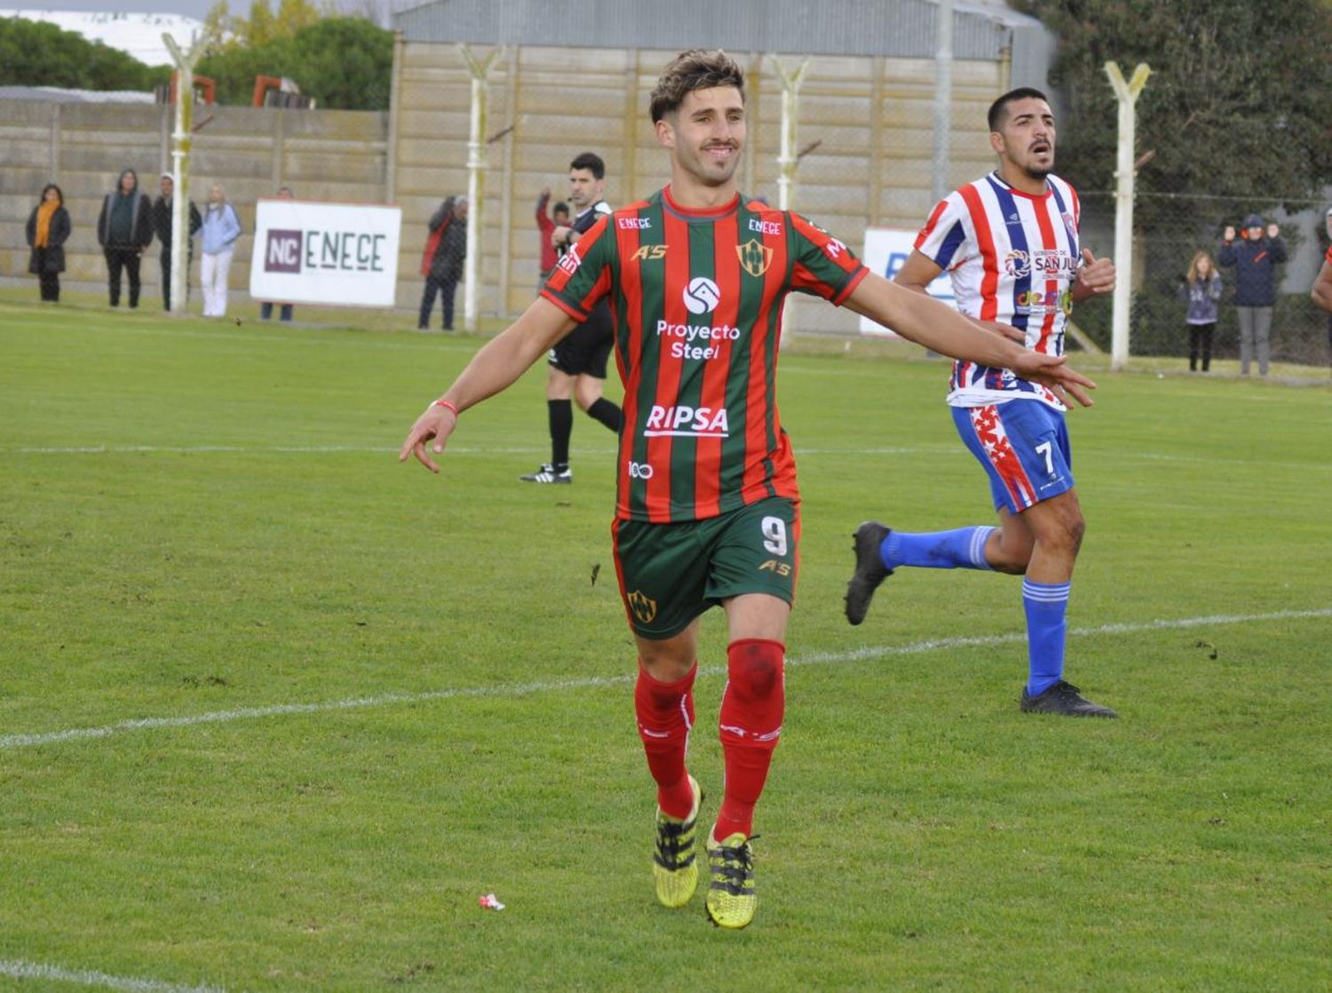
M782 304L791 291L840 304L866 272L799 215L739 196L691 211L669 187L583 235L542 296L578 321L610 299L625 384L615 516L663 524L798 500L777 411Z

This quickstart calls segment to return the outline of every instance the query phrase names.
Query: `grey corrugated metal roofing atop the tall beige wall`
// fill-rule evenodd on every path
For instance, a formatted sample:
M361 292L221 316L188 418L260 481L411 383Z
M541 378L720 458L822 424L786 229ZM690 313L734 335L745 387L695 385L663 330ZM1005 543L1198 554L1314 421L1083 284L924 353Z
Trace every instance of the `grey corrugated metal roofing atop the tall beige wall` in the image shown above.
M393 25L426 43L932 59L936 16L932 0L434 0ZM1046 33L984 3L958 0L952 16L955 59L994 60L1015 35Z

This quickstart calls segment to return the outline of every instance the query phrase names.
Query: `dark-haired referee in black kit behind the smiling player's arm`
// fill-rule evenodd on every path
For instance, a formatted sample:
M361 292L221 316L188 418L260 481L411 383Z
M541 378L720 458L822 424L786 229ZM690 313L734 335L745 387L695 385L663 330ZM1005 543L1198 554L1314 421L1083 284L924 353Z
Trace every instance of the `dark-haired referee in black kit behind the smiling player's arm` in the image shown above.
M575 211L573 223L555 225L550 241L561 257L567 255L591 227L610 213L610 204L601 199L606 189L606 163L594 152L583 152L569 163L569 203ZM535 472L519 476L523 483L573 483L569 468L569 439L574 431L573 401L589 417L601 421L617 435L623 412L602 396L606 388L606 359L611 340L610 307L602 301L591 309L573 335L550 349L546 373L546 412L550 421L550 461Z

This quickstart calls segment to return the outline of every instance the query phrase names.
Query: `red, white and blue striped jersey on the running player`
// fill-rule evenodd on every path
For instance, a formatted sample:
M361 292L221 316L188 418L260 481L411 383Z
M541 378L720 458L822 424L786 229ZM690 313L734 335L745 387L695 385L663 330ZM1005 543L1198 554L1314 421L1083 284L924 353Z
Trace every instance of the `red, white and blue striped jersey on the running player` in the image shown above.
M1063 355L1080 256L1079 217L1078 193L1058 176L1047 176L1046 192L1032 196L991 172L942 200L915 247L950 275L964 315L1011 324L1027 335L1027 348ZM1015 399L1064 409L1048 389L1010 369L952 364L952 407Z

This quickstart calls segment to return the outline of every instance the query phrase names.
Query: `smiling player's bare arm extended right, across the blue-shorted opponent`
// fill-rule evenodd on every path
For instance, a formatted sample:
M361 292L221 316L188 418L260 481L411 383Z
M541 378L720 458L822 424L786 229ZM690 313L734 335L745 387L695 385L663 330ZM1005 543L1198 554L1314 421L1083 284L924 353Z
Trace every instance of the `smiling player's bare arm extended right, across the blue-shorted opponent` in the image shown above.
M1030 352L1014 341L976 327L951 307L906 287L868 273L847 297L846 305L904 339L954 359L1012 369L1024 380L1066 392L1091 407L1086 391L1096 384L1064 364L1063 356Z

